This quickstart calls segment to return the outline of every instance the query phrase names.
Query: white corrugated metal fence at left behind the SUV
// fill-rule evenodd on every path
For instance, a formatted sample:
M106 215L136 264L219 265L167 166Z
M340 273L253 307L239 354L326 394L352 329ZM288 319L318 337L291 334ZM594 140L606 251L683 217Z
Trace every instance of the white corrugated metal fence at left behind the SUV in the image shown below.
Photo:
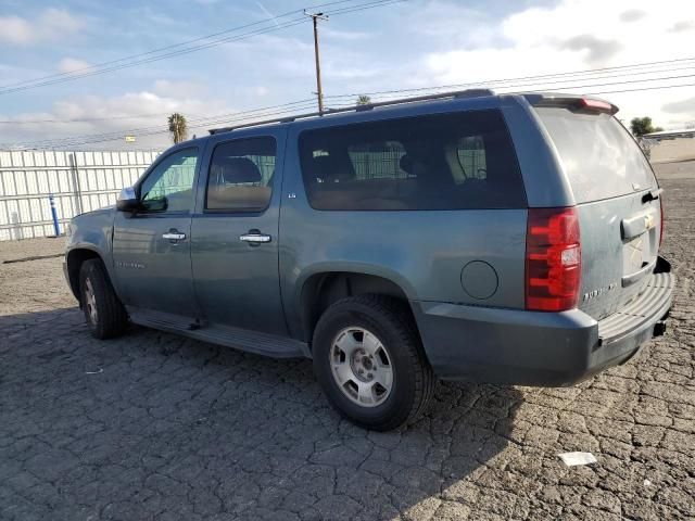
M54 234L75 215L114 204L159 151L0 151L0 241Z

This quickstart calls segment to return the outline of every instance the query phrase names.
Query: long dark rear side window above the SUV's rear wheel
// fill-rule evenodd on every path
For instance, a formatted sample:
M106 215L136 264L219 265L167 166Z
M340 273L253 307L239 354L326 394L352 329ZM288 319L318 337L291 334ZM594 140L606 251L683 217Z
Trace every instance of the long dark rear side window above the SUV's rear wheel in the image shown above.
M302 175L316 209L526 207L500 111L306 130Z

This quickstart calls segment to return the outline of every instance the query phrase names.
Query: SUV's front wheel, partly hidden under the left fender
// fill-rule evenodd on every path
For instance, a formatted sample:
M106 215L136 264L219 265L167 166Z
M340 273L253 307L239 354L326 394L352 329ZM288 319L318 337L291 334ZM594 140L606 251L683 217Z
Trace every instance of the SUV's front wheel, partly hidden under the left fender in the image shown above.
M92 336L100 340L123 334L128 314L116 296L101 260L85 260L79 268L79 297Z

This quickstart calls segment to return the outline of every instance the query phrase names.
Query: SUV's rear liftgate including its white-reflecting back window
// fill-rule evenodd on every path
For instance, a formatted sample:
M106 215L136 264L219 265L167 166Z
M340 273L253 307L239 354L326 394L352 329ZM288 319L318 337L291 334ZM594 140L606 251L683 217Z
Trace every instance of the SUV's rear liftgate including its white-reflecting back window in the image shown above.
M654 271L661 234L658 185L640 147L611 114L567 106L535 111L577 202L579 308L601 320L633 301Z

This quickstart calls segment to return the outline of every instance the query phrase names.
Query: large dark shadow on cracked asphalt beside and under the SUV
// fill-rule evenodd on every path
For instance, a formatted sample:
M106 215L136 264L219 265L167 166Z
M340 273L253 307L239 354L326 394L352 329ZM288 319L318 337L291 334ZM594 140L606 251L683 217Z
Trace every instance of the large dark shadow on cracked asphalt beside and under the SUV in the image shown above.
M422 419L377 433L330 408L306 359L137 327L100 342L74 308L0 317L0 488L34 514L439 517L519 450L513 387L440 383Z

